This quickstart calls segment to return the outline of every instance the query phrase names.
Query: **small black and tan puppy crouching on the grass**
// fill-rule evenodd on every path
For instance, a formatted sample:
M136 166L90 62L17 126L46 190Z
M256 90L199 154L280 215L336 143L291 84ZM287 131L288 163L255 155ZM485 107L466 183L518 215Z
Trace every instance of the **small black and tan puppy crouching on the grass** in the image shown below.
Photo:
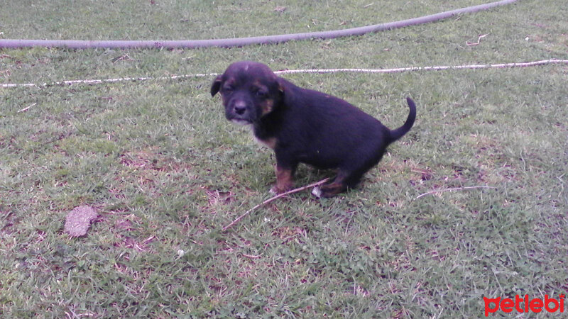
M211 95L221 93L229 121L252 125L253 135L276 155L276 184L271 191L293 188L297 164L338 169L332 182L315 189L331 197L353 188L377 164L386 147L413 126L416 107L403 126L389 130L342 99L302 89L257 62L235 62L214 80Z

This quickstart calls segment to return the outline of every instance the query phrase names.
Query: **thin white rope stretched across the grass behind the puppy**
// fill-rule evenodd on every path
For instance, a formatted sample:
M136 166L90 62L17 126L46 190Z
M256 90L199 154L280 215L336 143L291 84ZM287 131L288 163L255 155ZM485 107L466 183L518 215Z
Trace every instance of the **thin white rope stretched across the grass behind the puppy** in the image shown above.
M533 62L520 62L520 63L501 63L496 65L453 65L453 66L437 66L437 67L399 67L395 69L288 69L282 71L275 71L275 74L294 74L294 73L337 73L337 72L356 72L356 73L400 73L411 71L442 71L445 69L498 69L506 67L535 67L538 65L551 65L551 64L565 64L568 65L568 60L541 60ZM24 86L60 86L60 85L73 85L73 84L104 84L115 82L136 82L148 80L172 80L172 79L188 79L194 77L216 77L219 73L197 73L187 75L173 75L170 77L121 77L116 79L84 79L84 80L67 80L60 82L50 82L43 84L35 83L8 83L0 84L1 88L16 88Z

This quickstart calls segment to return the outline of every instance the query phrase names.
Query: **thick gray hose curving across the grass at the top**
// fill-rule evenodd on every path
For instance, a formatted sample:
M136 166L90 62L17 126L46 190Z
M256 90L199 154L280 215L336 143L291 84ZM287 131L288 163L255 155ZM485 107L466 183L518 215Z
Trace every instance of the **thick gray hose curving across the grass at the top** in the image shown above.
M0 39L0 48L21 48L21 47L63 47L70 49L92 49L92 48L109 48L109 49L148 49L148 48L185 48L194 49L197 47L242 47L244 45L253 44L273 44L284 43L290 40L305 40L312 38L331 39L352 35L364 35L366 33L378 32L383 30L392 30L395 28L403 28L405 26L414 26L422 23L429 23L444 18L450 18L462 13L474 13L477 11L491 9L495 6L503 6L512 4L517 0L503 0L491 2L488 4L480 4L478 6L469 6L463 9L445 11L442 13L432 14L430 16L422 16L420 18L411 18L391 23L380 23L373 26L364 26L359 28L350 28L344 30L332 30L322 32L309 33L293 33L285 35L267 35L250 38L231 38L231 39L212 39L212 40L13 40Z

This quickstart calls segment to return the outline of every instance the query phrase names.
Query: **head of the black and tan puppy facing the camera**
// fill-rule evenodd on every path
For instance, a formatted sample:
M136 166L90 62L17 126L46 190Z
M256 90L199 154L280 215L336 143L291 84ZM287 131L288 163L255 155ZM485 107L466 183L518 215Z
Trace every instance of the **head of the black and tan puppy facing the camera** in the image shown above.
M283 86L272 70L258 62L235 62L217 77L211 95L219 92L226 119L246 125L274 111L283 94Z

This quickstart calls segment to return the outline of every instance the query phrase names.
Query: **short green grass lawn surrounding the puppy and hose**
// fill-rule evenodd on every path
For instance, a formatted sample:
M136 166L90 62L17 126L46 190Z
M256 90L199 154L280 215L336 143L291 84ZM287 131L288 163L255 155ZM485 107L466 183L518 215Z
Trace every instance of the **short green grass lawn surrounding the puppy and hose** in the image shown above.
M485 1L5 2L3 38L177 40L349 28ZM565 16L563 1L521 0L336 40L0 50L0 83L222 72L244 59L273 69L568 59ZM0 316L477 318L483 296L566 292L567 66L286 77L391 128L413 96L415 127L358 189L295 194L226 233L269 197L274 157L224 119L212 79L0 89ZM326 176L302 166L297 184ZM464 186L496 189L417 198ZM70 238L65 216L83 204L100 217Z

